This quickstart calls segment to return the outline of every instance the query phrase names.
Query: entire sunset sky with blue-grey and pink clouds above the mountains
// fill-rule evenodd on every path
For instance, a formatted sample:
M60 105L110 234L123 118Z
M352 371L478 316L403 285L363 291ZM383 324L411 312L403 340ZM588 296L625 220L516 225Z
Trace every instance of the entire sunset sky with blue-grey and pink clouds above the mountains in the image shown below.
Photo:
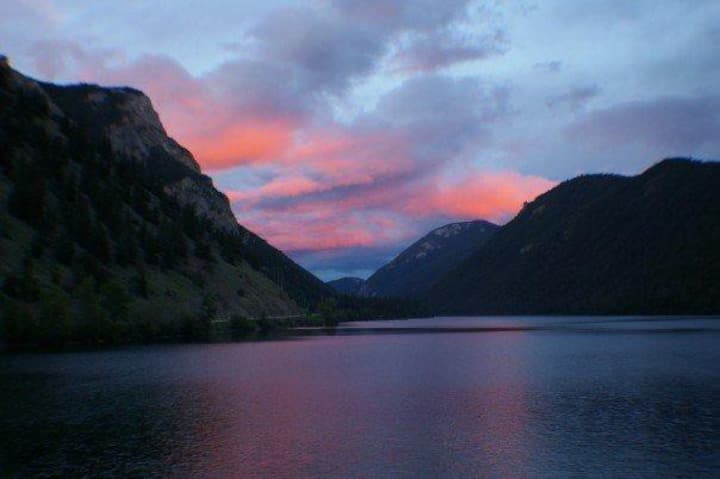
M720 156L720 2L2 0L0 53L145 91L323 279L558 181Z

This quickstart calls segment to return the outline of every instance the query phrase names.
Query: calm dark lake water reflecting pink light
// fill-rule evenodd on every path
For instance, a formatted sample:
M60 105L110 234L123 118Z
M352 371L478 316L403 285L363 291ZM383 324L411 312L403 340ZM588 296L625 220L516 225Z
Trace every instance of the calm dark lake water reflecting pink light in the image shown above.
M0 477L710 477L720 319L0 356Z

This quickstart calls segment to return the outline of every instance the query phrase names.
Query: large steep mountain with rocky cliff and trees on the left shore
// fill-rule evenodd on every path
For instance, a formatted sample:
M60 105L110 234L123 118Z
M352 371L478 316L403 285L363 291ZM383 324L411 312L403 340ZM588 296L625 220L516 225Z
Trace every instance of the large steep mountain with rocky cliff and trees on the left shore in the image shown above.
M43 83L0 57L0 160L13 341L197 336L213 319L298 315L334 294L238 225L140 91Z

